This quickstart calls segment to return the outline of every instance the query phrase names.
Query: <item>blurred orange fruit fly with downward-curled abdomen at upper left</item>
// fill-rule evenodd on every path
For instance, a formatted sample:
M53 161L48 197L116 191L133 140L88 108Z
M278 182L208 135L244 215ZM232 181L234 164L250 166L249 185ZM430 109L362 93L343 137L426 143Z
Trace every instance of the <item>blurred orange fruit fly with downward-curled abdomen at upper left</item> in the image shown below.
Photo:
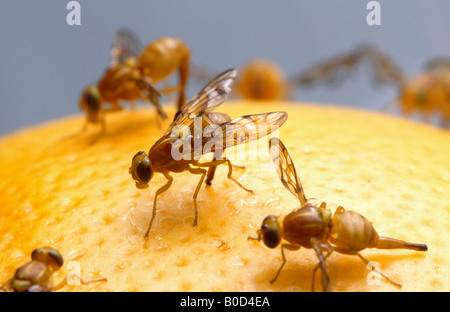
M119 101L150 100L162 119L167 115L159 103L161 93L178 91L177 106L183 106L190 60L190 50L183 41L162 37L142 49L131 31L121 29L110 54L110 66L97 85L87 86L81 94L79 106L86 111L83 130L88 123L100 123L100 136L106 128L104 114L123 109ZM156 90L155 84L166 81L176 70L179 84Z

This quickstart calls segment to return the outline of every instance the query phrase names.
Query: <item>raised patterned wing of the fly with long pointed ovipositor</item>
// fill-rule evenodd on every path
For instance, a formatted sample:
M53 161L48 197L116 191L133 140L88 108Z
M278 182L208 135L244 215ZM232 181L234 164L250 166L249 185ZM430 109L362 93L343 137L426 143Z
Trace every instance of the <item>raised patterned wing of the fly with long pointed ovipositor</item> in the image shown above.
M294 196L298 197L303 207L307 200L303 191L302 183L295 170L294 163L283 142L278 138L271 138L269 141L270 157L277 169L278 176L284 187Z

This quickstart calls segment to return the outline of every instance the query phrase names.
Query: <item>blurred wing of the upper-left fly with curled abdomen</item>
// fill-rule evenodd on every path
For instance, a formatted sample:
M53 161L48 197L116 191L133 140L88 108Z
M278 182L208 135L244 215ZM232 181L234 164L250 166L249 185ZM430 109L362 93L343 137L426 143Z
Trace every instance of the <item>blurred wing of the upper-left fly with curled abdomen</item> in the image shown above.
M129 57L138 56L142 51L142 44L134 32L129 29L119 29L114 38L110 52L110 67L122 63Z

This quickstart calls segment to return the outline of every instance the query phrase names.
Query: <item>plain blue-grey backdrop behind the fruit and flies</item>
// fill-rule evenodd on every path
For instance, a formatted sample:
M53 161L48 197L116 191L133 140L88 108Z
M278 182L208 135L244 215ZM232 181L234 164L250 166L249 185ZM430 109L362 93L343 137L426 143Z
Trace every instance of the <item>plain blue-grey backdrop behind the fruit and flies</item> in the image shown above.
M0 1L0 134L79 113L83 87L109 62L116 30L143 43L182 38L192 62L222 71L265 57L287 76L362 43L377 45L414 75L450 56L448 0L378 1L381 25L369 26L365 0L79 0L81 25L68 26L69 1ZM202 83L191 80L188 97ZM336 87L300 89L295 99L377 110L396 95L374 87L361 66Z

